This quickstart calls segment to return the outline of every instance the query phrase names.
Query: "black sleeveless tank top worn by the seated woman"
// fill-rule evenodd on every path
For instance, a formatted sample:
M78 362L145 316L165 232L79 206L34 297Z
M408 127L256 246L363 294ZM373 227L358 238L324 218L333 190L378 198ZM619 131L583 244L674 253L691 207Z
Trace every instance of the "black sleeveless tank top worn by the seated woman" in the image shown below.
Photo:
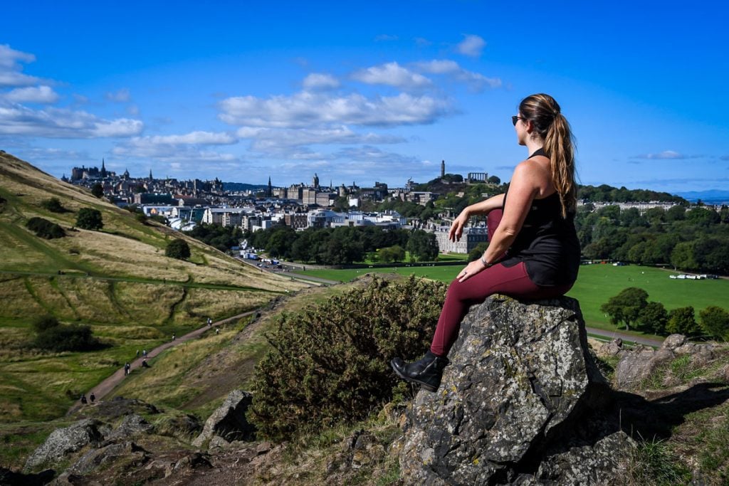
M544 150L538 149L529 158L537 155L545 155ZM504 205L508 194L507 189ZM502 260L506 267L519 262L524 262L529 278L540 286L567 285L577 280L580 240L574 230L574 209L563 218L557 192L532 201L521 230Z

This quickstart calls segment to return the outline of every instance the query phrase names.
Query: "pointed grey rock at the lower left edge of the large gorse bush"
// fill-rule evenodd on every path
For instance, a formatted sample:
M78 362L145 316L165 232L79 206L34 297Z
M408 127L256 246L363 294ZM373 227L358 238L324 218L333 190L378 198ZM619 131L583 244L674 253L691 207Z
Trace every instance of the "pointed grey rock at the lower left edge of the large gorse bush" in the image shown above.
M221 436L227 442L252 440L255 428L246 420L246 410L252 401L253 395L247 391L231 391L223 404L206 420L203 431L192 441L192 445L201 447L214 435Z

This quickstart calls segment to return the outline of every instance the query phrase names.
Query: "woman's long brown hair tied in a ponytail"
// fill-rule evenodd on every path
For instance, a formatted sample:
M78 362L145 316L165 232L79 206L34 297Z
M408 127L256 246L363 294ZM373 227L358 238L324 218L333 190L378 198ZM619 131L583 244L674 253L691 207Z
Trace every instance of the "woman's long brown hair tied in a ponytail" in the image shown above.
M545 141L544 151L550 159L550 172L562 205L562 217L577 206L577 184L574 181L574 140L569 122L561 114L558 103L550 95L539 93L519 103L519 113L534 124L534 130Z

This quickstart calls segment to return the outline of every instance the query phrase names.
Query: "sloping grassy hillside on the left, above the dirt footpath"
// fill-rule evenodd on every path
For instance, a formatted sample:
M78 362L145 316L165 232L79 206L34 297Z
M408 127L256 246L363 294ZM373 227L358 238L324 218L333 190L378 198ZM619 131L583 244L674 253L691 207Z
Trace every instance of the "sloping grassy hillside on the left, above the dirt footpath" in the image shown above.
M42 206L57 197L67 211ZM74 229L77 211L101 211L101 231ZM44 240L26 228L39 216L65 238ZM173 238L190 245L189 261L171 259ZM0 154L0 421L62 415L80 391L110 375L138 349L150 349L215 320L265 305L303 288L262 273L89 192ZM91 353L39 353L28 346L37 315L88 324L107 345Z

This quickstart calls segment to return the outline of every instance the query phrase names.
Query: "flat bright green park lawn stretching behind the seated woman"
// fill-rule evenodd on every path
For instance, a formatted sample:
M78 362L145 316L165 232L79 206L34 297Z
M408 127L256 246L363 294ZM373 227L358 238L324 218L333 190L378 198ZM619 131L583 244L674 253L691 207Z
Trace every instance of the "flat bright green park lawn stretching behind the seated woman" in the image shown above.
M450 282L461 269L458 265L447 267L391 267L359 270L306 270L299 272L308 276L331 281L349 281L364 273L415 274L419 277ZM614 330L608 318L600 312L600 306L607 299L627 287L639 287L648 292L648 300L662 303L667 310L676 307L693 306L698 312L709 305L729 309L729 280L678 280L668 278L676 274L672 270L654 267L626 265L614 267L611 264L582 265L577 283L567 294L580 301L582 314L588 326Z

